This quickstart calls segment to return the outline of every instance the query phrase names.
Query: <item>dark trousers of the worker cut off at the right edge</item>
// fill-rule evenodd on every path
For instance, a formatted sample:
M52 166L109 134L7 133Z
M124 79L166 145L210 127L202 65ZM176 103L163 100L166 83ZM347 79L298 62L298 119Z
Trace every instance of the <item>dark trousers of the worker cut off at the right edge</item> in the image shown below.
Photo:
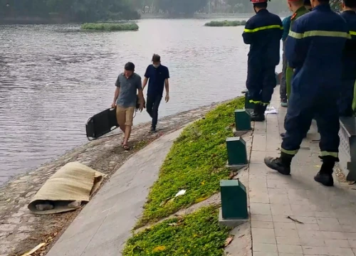
M352 117L352 100L354 97L355 80L342 80L340 98L337 102L340 117Z

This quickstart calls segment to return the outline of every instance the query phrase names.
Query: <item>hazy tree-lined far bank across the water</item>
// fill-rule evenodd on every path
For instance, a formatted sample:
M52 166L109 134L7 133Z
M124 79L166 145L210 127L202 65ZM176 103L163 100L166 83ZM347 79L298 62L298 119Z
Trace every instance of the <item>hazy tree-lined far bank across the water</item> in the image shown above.
M340 11L341 0L330 0ZM271 0L268 9L287 12L286 0ZM58 18L63 21L137 19L140 14L252 13L250 0L0 0L0 19Z

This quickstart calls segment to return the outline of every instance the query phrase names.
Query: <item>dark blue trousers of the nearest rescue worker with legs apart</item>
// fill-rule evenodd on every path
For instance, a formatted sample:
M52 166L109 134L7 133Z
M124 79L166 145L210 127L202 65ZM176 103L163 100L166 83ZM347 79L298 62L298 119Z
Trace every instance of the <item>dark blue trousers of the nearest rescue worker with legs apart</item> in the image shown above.
M340 144L337 95L317 96L315 99L307 97L308 94L290 95L284 123L286 135L283 137L281 151L296 154L310 128L311 120L315 118L320 133L321 156L337 158Z

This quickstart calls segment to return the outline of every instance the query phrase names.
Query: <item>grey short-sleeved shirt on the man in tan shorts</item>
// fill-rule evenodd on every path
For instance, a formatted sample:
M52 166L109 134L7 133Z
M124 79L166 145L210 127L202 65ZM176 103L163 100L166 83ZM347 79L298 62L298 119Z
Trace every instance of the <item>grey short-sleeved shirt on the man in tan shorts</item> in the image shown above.
M140 75L133 73L130 78L126 78L124 73L121 73L115 85L120 88L116 105L120 107L136 107L137 90L142 90Z

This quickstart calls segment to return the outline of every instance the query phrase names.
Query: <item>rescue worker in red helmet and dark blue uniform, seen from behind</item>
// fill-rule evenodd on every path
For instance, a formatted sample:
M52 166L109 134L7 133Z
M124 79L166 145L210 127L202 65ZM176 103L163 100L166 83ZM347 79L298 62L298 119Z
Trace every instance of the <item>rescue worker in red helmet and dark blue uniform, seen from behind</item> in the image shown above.
M264 112L276 87L276 65L280 60L282 21L267 11L267 0L251 0L256 15L247 22L242 34L250 45L246 87L250 102L254 103L251 121L263 122Z

